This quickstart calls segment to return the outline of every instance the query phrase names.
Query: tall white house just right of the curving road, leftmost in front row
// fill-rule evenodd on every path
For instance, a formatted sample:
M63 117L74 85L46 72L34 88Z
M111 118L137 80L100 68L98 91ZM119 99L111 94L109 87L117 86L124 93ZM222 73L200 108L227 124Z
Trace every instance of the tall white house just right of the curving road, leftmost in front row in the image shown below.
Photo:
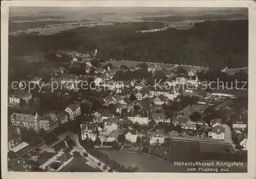
M80 124L80 128L82 140L91 139L95 141L97 139L98 125L96 123Z

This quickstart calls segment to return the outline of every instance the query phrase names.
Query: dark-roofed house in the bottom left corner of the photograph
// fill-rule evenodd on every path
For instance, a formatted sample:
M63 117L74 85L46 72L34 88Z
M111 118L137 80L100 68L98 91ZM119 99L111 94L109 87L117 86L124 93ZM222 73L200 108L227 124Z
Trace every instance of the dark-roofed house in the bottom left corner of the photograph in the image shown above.
M30 172L31 165L24 160L21 159L10 159L7 161L8 171L16 171L16 172Z

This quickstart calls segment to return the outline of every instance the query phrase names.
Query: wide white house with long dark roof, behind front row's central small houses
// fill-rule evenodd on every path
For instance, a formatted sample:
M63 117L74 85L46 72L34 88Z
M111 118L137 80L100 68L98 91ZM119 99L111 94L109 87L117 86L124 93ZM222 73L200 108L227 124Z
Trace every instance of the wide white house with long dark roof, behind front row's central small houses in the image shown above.
M127 113L127 118L133 123L138 122L139 124L148 124L148 114L146 111L130 111Z

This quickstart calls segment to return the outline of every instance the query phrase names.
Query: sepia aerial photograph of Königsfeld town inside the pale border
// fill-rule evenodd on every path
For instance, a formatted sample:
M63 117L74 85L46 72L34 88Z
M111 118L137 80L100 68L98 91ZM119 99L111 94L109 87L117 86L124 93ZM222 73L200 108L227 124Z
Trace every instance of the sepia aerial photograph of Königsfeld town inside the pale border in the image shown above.
M248 8L10 7L9 172L247 172Z

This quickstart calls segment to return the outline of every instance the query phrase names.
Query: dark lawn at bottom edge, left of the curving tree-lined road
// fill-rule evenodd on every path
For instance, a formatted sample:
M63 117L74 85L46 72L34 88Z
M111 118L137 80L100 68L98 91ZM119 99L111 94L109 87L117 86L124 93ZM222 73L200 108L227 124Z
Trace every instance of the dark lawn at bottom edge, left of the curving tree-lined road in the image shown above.
M87 160L83 157L76 158L63 167L60 172L100 172L99 169L92 168L86 162Z

